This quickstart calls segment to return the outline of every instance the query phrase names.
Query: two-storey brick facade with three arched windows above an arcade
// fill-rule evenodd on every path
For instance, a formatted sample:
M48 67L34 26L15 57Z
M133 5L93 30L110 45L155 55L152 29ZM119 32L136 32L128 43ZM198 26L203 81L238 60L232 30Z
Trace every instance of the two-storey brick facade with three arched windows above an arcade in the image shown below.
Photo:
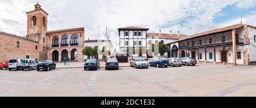
M64 57L71 61L83 61L84 28L63 29L47 32L48 59L61 62Z

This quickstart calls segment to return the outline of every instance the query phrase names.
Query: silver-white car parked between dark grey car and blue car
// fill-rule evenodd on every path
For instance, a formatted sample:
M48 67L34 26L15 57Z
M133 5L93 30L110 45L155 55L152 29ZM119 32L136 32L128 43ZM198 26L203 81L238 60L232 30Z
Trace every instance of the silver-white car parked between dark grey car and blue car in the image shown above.
M143 58L133 58L130 61L130 66L135 68L148 68L148 63Z

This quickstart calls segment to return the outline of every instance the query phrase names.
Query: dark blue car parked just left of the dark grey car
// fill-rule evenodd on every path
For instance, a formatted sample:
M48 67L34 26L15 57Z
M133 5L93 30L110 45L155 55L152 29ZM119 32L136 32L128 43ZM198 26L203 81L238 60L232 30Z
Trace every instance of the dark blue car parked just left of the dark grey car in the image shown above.
M88 59L84 63L84 70L87 70L87 69L98 70L98 68L100 68L100 62L97 59Z

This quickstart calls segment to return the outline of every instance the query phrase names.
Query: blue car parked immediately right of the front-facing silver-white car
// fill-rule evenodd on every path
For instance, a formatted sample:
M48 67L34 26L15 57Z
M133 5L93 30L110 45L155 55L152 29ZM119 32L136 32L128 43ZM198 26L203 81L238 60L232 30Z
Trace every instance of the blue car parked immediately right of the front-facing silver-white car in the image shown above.
M155 58L150 61L150 66L168 67L169 61L166 58Z

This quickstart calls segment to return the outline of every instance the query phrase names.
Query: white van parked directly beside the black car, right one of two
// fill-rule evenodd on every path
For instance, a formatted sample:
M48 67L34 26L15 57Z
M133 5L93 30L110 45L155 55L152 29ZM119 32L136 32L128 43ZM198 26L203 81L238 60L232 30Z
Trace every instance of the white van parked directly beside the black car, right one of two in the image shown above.
M34 70L37 65L36 59L22 59L21 70Z

